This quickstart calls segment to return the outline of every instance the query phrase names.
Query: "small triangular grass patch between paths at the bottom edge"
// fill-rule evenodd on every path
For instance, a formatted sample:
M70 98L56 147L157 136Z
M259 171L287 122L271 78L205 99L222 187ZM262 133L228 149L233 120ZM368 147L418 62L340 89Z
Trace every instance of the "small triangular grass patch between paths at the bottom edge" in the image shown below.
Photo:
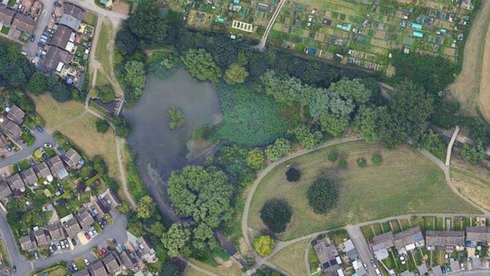
M309 242L310 240L307 239L291 244L274 255L270 262L290 275L305 275L306 265L304 253Z

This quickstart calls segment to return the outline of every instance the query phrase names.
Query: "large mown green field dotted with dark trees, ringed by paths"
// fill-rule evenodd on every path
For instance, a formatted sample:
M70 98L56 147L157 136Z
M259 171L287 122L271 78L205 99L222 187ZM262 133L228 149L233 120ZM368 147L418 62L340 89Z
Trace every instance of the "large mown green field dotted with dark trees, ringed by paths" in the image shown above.
M291 223L279 236L282 240L407 213L477 212L452 194L442 171L412 148L386 150L381 144L361 141L337 145L334 150L347 160L347 169L338 169L327 160L332 149L295 158L264 177L252 199L249 227L265 228L259 212L271 198L283 198L293 209ZM371 160L374 153L383 156L381 165L369 162L361 168L355 164L359 157ZM287 164L301 170L302 177L295 184L285 179ZM308 187L319 175L334 179L339 191L337 206L326 215L313 213L306 199Z

